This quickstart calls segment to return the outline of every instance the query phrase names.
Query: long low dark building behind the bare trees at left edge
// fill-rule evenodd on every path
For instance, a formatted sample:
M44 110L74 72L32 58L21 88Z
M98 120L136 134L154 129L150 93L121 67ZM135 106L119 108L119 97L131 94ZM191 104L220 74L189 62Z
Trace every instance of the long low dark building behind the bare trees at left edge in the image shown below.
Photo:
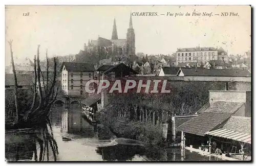
M32 74L16 74L18 88L33 88L34 77ZM13 74L5 74L5 88L14 88L15 80Z

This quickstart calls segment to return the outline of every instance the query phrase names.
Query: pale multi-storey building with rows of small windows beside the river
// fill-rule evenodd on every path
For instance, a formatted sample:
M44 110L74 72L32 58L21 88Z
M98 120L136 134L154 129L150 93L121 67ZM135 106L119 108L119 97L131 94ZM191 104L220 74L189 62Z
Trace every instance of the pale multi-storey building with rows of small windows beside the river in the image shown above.
M62 62L61 87L68 96L86 96L86 83L94 79L92 63Z

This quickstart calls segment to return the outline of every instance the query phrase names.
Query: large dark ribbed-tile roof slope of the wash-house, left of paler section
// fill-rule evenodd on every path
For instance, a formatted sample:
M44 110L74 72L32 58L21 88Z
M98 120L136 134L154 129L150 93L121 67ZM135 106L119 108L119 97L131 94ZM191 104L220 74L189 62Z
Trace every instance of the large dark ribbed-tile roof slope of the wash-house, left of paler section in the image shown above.
M230 116L231 113L226 112L203 112L180 125L177 130L204 136L206 132L216 128Z

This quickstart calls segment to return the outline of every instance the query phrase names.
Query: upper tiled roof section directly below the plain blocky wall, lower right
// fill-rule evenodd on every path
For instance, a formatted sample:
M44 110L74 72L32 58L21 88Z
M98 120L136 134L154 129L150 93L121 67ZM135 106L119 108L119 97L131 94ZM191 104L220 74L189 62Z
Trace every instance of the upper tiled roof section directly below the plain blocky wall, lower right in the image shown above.
M208 107L204 112L227 112L234 113L244 105L243 102L217 101Z

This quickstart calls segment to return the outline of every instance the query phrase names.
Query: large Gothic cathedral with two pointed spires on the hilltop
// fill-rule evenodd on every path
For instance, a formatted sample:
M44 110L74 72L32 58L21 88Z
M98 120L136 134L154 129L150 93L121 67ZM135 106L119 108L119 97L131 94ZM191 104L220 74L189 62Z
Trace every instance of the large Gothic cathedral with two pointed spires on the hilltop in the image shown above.
M135 33L133 29L132 15L130 15L129 28L127 29L126 39L118 39L116 19L114 18L112 38L105 39L98 37L97 40L89 40L88 45L84 43L84 51L92 53L101 53L106 59L115 61L117 59L125 60L135 55Z

